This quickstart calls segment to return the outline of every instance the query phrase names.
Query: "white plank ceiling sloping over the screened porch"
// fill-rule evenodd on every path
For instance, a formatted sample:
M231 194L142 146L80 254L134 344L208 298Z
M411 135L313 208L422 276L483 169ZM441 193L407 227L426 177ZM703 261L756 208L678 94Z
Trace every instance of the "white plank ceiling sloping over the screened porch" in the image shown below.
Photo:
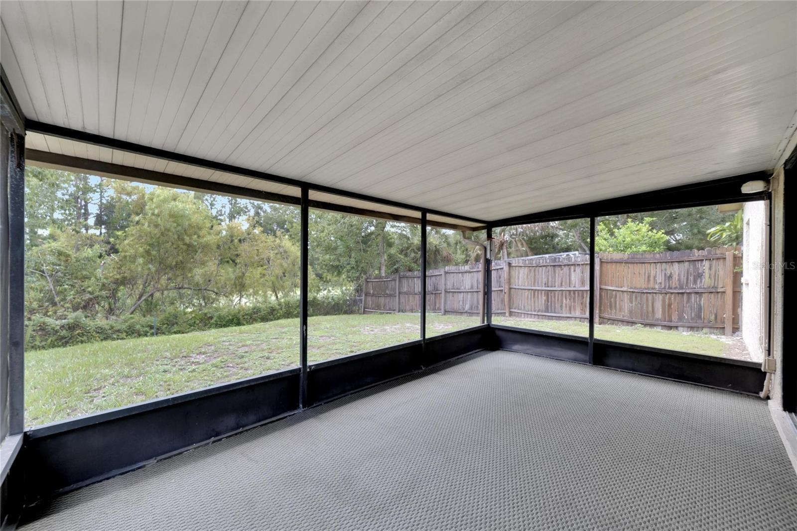
M32 120L497 219L773 167L795 7L3 0L0 55Z

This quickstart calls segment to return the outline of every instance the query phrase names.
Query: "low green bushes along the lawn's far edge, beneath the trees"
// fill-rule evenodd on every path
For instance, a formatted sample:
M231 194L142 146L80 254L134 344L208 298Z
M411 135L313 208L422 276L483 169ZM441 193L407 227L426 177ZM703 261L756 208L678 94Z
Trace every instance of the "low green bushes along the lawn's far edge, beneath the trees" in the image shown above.
M352 293L320 293L308 297L308 314L311 316L341 315L357 310L359 308ZM243 307L209 307L196 311L167 309L155 318L136 314L112 320L97 320L88 319L83 313L73 313L65 319L37 316L26 322L25 344L29 350L41 350L147 337L152 335L153 326L159 336L171 336L297 317L297 297Z

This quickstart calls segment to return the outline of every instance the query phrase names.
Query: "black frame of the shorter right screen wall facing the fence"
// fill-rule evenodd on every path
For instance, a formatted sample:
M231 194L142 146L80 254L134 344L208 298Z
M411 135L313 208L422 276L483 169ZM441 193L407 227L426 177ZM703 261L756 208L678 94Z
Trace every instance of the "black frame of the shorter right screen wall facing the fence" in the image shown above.
M766 180L770 175L760 171L745 175L736 175L726 179L717 179L704 183L689 184L660 191L628 195L626 197L607 199L575 207L548 210L537 214L505 218L488 222L487 230L497 226L516 226L537 222L553 222L566 219L589 218L590 220L590 283L589 283L589 335L570 336L556 332L516 328L503 325L491 325L495 329L496 344L500 348L528 352L538 356L554 357L591 364L617 370L637 372L647 376L656 376L670 380L718 387L730 391L747 394L758 394L764 387L764 372L760 364L743 360L729 360L712 356L701 356L689 352L680 352L665 348L652 348L636 344L616 343L595 338L595 230L599 216L614 214L632 214L674 208L702 207L724 203L747 203L767 200L771 204L771 193L762 191L756 194L742 194L741 185L749 180ZM771 208L770 208L771 210ZM785 210L785 207L784 207ZM771 227L770 227L771 229ZM768 246L771 250L772 231L768 231ZM771 261L771 253L770 253ZM786 261L789 264L791 262ZM771 270L769 273L771 285ZM785 296L785 291L784 291ZM771 322L771 297L768 293L768 314ZM787 319L786 309L783 311L784 322ZM784 337L785 340L785 337ZM771 348L771 339L768 349ZM787 348L783 348L786 357ZM785 366L795 369L795 362L784 361ZM797 382L797 374L784 369L783 380L791 377ZM797 384L791 389L783 384L783 405L797 407ZM787 395L789 398L787 399ZM788 402L793 400L793 402ZM794 411L787 410L787 411Z

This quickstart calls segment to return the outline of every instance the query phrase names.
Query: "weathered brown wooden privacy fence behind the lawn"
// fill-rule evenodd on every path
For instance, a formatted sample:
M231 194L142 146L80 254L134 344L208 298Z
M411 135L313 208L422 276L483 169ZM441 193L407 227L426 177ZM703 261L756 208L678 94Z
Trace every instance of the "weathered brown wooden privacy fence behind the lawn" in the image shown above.
M739 247L599 254L595 259L597 322L681 330L720 328L732 335L740 322L741 273L737 269L741 259ZM587 321L587 254L496 260L492 275L494 315ZM428 311L479 315L481 279L479 265L431 269L426 277ZM363 293L363 313L417 312L420 274L368 278Z

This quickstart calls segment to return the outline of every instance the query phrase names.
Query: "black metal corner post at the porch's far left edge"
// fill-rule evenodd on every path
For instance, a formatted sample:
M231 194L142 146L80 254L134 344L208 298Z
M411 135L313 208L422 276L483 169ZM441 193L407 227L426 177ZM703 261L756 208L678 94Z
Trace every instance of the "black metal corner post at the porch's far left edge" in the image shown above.
M8 429L15 435L25 429L25 136L11 134L8 160Z

